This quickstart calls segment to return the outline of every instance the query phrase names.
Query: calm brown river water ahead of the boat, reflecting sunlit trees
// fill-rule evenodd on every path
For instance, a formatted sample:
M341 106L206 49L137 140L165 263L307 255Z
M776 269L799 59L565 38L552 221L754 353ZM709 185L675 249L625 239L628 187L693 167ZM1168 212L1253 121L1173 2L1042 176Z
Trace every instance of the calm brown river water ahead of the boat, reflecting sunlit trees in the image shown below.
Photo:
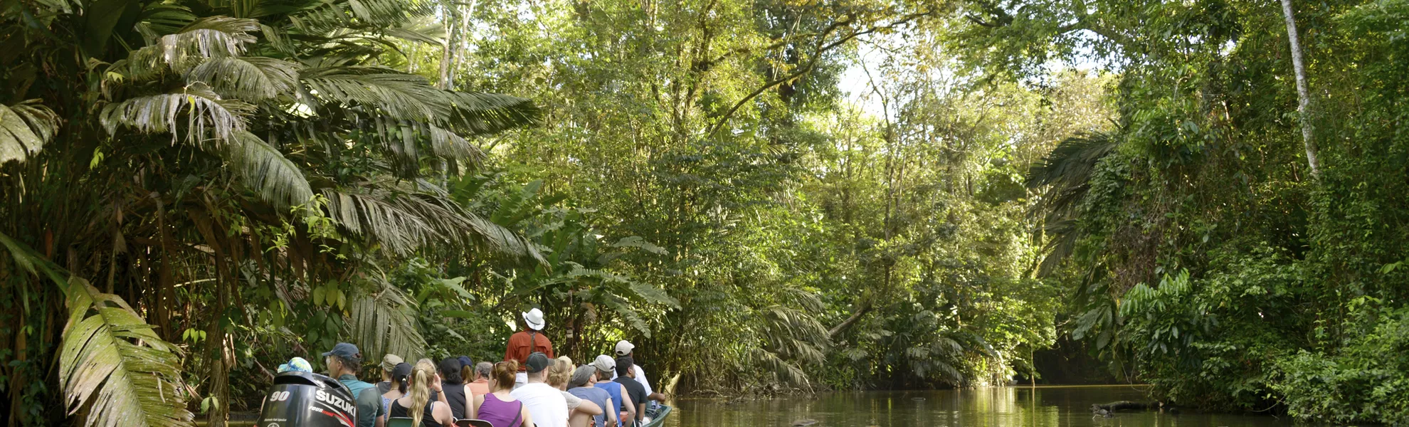
M1092 403L1148 402L1133 386L986 388L927 392L845 392L814 397L758 399L727 403L719 399L681 399L666 427L789 427L817 420L813 427L1262 427L1292 426L1288 419L1248 414L1179 411L1120 411L1092 417Z

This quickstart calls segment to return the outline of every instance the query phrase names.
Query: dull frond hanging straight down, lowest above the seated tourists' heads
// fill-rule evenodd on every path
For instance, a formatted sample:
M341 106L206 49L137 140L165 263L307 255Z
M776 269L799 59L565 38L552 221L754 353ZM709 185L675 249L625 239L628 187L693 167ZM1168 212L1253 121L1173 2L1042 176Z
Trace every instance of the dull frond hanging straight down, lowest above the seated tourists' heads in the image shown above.
M364 354L396 354L417 359L426 354L426 338L416 324L416 300L380 278L352 293L348 334Z

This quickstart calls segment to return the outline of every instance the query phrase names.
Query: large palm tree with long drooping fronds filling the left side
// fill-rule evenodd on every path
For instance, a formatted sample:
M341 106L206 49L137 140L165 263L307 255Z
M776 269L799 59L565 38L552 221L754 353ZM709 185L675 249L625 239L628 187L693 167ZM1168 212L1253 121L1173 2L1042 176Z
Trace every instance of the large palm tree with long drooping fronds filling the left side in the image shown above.
M541 262L430 179L478 163L468 138L538 116L524 99L437 89L387 66L397 41L440 44L423 30L430 11L411 0L0 6L0 76L11 82L0 89L11 255L0 278L4 303L23 307L3 316L69 318L62 333L3 333L0 351L58 358L62 397L48 399L85 426L192 424L180 372L200 361L220 426L234 359L225 324L249 316L245 287L273 289L286 309L333 289L369 352L414 355L414 328L385 340L383 326L407 324L414 306L376 280L375 259ZM344 286L351 310L325 282L362 283ZM178 313L194 299L178 286L209 306ZM207 337L199 358L169 342L183 324ZM44 378L4 369L17 383Z

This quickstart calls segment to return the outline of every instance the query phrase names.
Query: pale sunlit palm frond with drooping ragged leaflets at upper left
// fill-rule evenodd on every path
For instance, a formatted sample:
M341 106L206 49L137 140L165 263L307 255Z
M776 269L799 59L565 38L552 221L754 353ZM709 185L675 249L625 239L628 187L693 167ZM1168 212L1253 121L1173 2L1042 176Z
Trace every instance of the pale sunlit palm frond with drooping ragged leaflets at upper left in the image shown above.
M108 134L118 127L132 127L144 132L172 132L176 140L178 116L186 116L186 140L207 135L230 140L245 128L244 116L254 106L241 100L220 99L204 85L193 85L180 92L141 96L103 107L99 120Z

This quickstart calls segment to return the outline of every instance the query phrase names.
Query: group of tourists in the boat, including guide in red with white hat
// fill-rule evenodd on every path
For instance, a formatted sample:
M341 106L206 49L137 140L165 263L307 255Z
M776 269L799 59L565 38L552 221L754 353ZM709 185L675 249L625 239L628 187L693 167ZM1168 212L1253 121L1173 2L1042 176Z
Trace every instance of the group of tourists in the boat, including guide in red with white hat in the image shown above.
M509 337L504 358L475 364L468 357L438 364L407 364L395 354L382 357L382 382L359 380L362 354L340 342L324 352L328 375L356 400L355 427L385 427L406 417L413 427L452 427L455 420L485 420L493 427L633 427L644 424L647 407L665 395L651 389L645 371L631 358L633 345L617 341L614 354L576 365L554 357L542 335L542 311L523 313L524 328ZM302 364L302 365L300 365ZM306 371L294 358L280 372Z

